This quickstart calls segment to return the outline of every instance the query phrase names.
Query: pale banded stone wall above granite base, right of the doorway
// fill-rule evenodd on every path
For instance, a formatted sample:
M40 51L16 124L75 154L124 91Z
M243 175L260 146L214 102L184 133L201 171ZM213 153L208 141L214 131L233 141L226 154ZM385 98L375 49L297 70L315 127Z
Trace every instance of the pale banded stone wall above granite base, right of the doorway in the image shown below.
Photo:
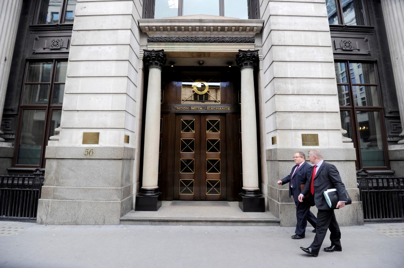
M341 148L341 123L323 0L260 3L266 148L299 148L317 133L320 148ZM272 137L277 144L272 145Z

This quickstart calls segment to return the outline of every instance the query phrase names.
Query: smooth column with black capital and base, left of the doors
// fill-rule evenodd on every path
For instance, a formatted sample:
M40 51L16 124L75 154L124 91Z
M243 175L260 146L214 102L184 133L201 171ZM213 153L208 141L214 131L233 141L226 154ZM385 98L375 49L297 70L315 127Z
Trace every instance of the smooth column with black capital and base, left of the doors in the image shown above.
M159 141L161 110L161 70L167 59L161 50L144 49L143 63L149 70L144 126L143 176L136 196L135 210L157 211L161 207L159 191Z

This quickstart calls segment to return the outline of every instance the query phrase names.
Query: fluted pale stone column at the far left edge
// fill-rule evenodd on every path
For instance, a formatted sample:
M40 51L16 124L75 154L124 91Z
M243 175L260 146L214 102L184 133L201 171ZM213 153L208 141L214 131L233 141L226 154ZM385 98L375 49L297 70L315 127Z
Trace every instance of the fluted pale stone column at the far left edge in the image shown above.
M16 41L18 21L20 19L22 0L3 1L0 4L0 121L3 118L4 102L6 100L7 84L10 75L10 64ZM0 129L0 135L3 131ZM0 137L0 143L5 142ZM10 144L0 144L10 147Z

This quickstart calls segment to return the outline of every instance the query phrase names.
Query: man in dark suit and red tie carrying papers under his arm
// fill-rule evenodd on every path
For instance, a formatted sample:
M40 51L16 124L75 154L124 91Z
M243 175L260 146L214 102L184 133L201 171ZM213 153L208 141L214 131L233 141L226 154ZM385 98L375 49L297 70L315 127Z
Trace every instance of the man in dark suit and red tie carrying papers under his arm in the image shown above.
M327 229L330 229L331 246L325 247L324 251L334 252L342 251L341 247L341 232L337 220L335 218L334 209L331 209L324 197L323 192L327 189L335 188L339 196L339 202L336 208L343 208L347 202L345 195L345 185L342 183L341 177L337 168L323 161L323 156L319 150L309 151L309 160L315 164L312 168L309 180L305 188L301 191L298 199L303 202L305 195L309 193L309 199L316 204L317 227L316 236L313 243L305 248L300 247L307 254L317 257L320 251L321 244L327 234Z

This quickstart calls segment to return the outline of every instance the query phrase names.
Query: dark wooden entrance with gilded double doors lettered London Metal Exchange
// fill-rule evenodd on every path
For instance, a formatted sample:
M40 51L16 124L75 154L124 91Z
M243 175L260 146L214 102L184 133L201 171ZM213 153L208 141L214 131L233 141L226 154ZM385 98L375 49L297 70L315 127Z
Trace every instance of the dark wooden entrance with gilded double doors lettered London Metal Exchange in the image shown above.
M237 200L239 72L164 70L159 187L165 200ZM238 74L236 74L238 73Z

